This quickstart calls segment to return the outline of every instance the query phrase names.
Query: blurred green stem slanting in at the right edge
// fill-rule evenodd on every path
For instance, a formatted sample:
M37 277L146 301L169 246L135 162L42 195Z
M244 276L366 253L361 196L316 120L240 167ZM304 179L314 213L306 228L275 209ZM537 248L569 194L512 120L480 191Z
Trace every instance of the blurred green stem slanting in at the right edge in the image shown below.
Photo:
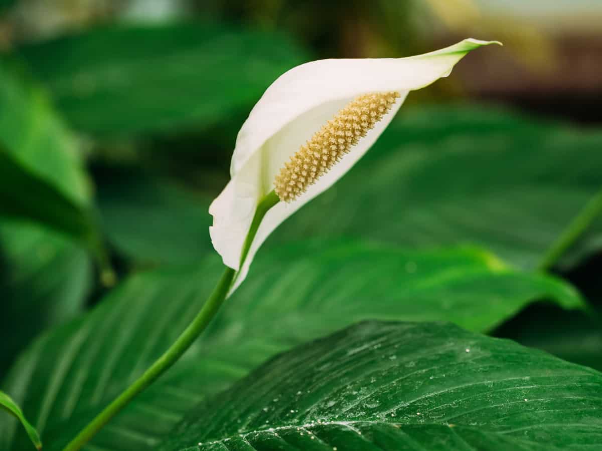
M573 222L553 242L539 263L538 269L545 270L554 266L600 213L602 213L602 191L589 200L583 210L573 219Z

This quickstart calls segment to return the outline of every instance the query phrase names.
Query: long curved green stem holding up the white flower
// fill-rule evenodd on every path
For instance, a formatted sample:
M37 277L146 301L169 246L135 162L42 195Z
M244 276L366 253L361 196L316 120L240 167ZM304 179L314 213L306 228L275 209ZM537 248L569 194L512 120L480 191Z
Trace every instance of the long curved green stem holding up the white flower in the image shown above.
M278 196L272 191L266 195L255 211L253 221L249 233L244 241L241 265L244 262L249 248L253 242L253 238L257 233L261 219L265 216L265 213L278 203ZM119 413L128 403L146 387L152 384L161 374L169 369L184 352L190 348L190 345L197 339L197 337L205 330L205 327L209 324L211 319L217 313L226 296L228 296L228 290L234 280L235 271L232 268L226 268L217 282L213 292L203 304L199 313L194 317L193 321L188 327L180 334L178 339L172 344L172 346L159 357L152 366L147 369L143 375L141 375L134 383L132 383L122 394L120 394L113 402L111 402L105 409L99 413L92 422L88 423L84 429L82 429L75 438L63 449L63 451L78 451L88 443L90 438L96 435L96 432L100 431L102 426L106 425L117 413Z

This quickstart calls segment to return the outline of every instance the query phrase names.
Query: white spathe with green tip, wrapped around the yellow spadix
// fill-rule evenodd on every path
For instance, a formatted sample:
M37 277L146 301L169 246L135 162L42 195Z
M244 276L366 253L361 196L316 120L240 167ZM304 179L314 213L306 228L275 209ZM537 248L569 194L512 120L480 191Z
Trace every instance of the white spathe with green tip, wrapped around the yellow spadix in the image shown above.
M211 203L211 241L225 265L238 271L231 292L249 271L259 246L282 221L332 186L370 149L409 91L448 76L464 55L497 41L465 39L453 46L408 58L318 60L281 75L259 99L238 132L231 180ZM284 163L347 103L361 94L397 91L391 111L341 162L291 203L279 202L264 216L249 253L239 268L244 239L259 201L274 189Z

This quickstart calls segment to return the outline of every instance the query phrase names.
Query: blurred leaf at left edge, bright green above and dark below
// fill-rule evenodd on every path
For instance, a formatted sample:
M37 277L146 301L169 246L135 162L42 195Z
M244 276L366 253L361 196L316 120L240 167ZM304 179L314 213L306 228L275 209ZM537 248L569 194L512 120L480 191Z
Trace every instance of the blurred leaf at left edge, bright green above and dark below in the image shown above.
M73 139L43 93L17 76L0 67L0 216L64 233L104 262Z

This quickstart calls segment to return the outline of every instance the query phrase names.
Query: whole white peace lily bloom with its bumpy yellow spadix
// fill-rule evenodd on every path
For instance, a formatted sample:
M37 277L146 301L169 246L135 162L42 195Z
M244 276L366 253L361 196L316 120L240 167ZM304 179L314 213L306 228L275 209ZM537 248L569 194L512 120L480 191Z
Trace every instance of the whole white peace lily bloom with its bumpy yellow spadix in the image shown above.
M448 76L464 55L492 43L466 39L409 58L311 61L273 82L240 129L231 180L209 207L211 241L238 271L230 292L268 235L350 170L409 91Z

